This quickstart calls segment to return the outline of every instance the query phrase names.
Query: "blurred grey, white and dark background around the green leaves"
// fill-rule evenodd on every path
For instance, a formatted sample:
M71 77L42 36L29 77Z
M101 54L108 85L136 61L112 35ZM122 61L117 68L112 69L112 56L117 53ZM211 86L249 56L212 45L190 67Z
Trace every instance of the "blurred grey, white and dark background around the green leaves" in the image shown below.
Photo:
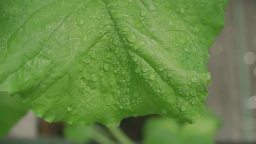
M256 0L229 1L225 27L210 53L212 84L206 105L223 121L215 141L256 142ZM147 117L128 118L120 126L131 139L141 141ZM50 124L28 112L7 138L61 138L63 127L64 123Z

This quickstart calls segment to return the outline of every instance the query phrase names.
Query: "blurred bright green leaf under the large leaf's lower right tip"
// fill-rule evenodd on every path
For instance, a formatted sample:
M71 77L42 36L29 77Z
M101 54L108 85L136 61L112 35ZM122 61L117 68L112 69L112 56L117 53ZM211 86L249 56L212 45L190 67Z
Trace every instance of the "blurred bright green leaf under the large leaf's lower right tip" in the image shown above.
M144 125L143 144L214 144L214 136L221 120L213 115L203 115L195 124L154 117Z

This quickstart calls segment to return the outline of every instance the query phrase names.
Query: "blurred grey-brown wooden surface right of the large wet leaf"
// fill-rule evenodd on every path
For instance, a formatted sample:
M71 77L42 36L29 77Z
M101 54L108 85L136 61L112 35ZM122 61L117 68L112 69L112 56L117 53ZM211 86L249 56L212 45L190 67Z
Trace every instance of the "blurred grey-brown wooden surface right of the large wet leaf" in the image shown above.
M256 140L256 109L245 107L256 95L256 63L246 64L240 50L256 54L256 0L229 0L226 25L210 49L207 106L224 120L217 141Z

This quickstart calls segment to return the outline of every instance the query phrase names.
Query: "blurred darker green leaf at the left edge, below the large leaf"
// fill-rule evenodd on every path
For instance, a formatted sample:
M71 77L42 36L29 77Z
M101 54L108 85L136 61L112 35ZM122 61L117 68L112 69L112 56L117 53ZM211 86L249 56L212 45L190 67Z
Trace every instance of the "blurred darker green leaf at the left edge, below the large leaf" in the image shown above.
M11 97L10 94L0 91L0 138L3 138L26 113L27 108L22 104L19 95Z

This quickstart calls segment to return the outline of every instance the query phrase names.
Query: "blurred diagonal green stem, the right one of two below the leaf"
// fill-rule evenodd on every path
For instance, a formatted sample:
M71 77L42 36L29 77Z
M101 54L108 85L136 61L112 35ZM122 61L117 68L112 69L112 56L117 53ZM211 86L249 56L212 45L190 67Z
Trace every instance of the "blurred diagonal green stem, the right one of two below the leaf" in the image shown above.
M108 130L115 136L120 144L135 144L119 127L108 128Z

